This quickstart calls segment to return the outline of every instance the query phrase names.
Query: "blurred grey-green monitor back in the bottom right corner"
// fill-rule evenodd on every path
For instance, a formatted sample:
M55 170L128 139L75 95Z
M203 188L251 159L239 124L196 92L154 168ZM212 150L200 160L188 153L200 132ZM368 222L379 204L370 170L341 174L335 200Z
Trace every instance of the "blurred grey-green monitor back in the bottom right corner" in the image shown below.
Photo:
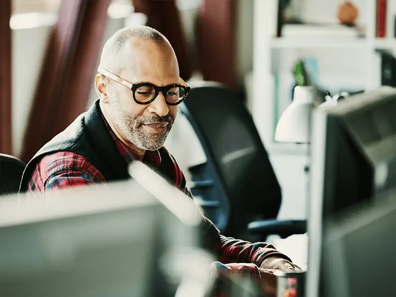
M395 296L396 191L325 221L323 297Z

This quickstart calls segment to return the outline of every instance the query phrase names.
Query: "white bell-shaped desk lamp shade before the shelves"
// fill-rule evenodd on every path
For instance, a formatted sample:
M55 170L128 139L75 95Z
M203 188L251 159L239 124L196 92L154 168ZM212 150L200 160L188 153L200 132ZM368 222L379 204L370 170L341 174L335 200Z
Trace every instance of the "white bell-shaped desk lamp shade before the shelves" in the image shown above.
M276 126L276 142L309 143L314 96L315 90L312 87L295 88L294 100L282 113Z

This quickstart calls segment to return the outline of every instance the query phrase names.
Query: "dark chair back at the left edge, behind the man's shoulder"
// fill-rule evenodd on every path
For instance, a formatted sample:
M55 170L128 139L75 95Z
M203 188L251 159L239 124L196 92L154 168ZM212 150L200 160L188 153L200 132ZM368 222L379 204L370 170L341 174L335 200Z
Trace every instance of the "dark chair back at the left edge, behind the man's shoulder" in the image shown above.
M0 153L0 196L18 193L25 167L18 158Z

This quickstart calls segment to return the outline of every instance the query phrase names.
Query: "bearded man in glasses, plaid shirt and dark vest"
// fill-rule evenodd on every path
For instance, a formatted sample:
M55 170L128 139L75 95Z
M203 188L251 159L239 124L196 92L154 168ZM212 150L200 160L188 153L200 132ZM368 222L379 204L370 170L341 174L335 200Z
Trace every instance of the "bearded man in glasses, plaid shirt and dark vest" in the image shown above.
M99 100L39 150L24 172L20 191L126 179L128 164L139 160L191 197L183 172L162 147L177 104L189 91L167 39L146 26L116 32L104 45L95 88ZM216 262L219 274L248 275L268 291L264 287L269 283L260 284L260 276L273 279L264 269L300 270L271 245L226 238L206 218L205 223L221 262Z

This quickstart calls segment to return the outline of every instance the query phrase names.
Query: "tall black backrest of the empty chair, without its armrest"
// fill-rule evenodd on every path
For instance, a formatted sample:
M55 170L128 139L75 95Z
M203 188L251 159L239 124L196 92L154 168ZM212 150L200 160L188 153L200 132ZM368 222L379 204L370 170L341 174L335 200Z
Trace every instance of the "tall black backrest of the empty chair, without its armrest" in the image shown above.
M180 108L229 200L225 235L241 235L255 219L275 219L282 201L281 188L253 120L237 94L221 85L204 83L192 88Z

